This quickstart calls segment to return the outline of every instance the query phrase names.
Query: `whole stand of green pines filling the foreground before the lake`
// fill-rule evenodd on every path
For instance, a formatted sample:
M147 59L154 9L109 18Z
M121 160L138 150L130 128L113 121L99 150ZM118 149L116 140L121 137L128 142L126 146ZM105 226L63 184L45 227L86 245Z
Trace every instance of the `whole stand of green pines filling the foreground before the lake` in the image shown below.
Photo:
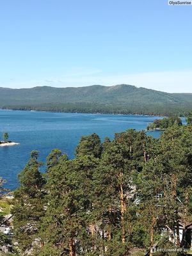
M159 139L133 129L103 143L97 134L83 136L74 159L52 150L45 173L31 152L14 191L18 255L128 256L156 243L189 248L179 228L185 232L192 221L191 136L190 116Z

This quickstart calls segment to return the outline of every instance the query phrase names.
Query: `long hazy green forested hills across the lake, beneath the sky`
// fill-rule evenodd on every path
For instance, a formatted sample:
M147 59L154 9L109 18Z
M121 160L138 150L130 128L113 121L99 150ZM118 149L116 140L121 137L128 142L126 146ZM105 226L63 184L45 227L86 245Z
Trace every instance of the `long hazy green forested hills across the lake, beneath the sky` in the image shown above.
M191 93L165 93L128 84L28 89L0 88L0 108L51 111L177 114L192 109Z

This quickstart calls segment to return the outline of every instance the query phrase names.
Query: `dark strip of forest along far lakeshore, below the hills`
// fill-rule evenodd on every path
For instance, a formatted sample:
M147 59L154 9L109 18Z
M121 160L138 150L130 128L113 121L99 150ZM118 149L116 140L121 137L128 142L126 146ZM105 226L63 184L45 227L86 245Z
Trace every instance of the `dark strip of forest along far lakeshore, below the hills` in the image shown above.
M15 106L3 106L3 109L13 110L35 110L52 111L64 113L113 113L121 115L159 115L159 116L187 116L191 103L140 103L137 104L102 104L97 102L66 102L66 103L47 103L47 104L25 104Z

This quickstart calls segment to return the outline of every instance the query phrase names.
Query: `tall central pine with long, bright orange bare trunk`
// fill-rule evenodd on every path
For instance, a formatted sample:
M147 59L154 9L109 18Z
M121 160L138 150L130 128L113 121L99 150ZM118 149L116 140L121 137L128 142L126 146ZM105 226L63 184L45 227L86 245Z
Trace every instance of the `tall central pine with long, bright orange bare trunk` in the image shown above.
M128 253L125 230L128 200L125 194L130 190L133 166L130 147L125 145L125 134L116 134L115 140L108 141L95 174L95 193L98 198L96 209L108 248L105 253L114 255ZM121 248L121 252L118 248Z

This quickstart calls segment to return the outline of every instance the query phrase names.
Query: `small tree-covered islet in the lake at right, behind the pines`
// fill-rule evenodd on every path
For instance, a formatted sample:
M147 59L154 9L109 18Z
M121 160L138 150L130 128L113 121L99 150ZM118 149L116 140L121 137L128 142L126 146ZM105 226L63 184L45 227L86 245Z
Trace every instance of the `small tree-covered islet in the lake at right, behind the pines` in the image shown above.
M147 131L164 131L173 125L182 125L182 120L177 116L170 116L168 118L156 119L153 123L147 126Z

